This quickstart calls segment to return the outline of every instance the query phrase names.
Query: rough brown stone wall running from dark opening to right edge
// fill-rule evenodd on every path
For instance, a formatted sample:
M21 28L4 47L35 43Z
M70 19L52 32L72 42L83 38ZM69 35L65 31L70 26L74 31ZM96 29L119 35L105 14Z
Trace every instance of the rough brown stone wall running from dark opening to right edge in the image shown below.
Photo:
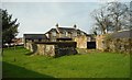
M96 37L97 49L113 53L132 53L132 38L112 38L108 34Z

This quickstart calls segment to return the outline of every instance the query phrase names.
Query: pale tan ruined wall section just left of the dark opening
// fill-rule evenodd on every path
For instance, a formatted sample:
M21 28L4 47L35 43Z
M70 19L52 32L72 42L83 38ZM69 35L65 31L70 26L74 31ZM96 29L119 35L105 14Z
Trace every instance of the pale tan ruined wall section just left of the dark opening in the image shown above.
M77 36L75 37L75 42L77 42L77 48L87 48L87 36Z

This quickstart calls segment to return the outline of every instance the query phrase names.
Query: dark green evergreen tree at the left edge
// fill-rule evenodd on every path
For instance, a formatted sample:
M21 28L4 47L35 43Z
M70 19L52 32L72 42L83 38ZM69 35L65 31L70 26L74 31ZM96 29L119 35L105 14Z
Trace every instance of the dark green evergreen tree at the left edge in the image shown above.
M2 18L2 44L10 44L18 35L20 23L16 23L18 19L12 20L12 14L8 14L7 10L0 9L0 16Z

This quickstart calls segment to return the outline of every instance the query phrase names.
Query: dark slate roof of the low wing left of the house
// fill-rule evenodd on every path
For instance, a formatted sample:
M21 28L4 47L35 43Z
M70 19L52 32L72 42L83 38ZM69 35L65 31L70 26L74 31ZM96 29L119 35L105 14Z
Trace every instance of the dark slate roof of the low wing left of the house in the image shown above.
M24 34L24 38L29 38L29 39L46 39L46 35L45 34Z

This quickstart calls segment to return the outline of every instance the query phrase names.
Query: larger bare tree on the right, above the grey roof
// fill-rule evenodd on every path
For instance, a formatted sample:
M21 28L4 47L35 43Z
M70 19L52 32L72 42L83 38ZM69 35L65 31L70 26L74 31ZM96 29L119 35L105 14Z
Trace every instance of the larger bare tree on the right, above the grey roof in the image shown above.
M108 11L116 32L128 27L130 14L127 4L121 2L110 2L108 3Z

